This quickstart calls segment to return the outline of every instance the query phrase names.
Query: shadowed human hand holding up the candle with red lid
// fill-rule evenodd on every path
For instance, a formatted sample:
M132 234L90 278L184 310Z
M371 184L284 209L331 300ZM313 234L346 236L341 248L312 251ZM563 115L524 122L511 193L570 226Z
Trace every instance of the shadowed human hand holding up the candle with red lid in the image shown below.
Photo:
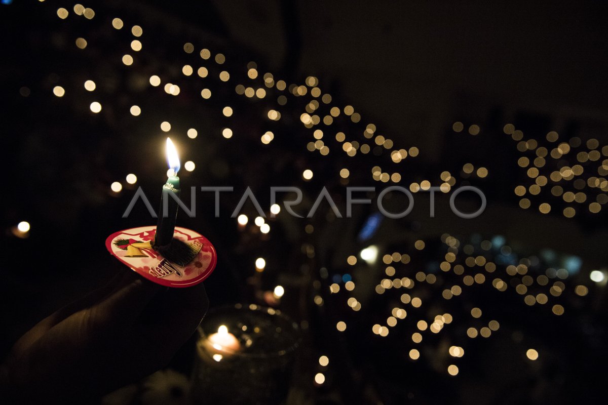
M165 288L125 272L16 342L0 398L82 403L137 381L167 365L208 307L202 284Z

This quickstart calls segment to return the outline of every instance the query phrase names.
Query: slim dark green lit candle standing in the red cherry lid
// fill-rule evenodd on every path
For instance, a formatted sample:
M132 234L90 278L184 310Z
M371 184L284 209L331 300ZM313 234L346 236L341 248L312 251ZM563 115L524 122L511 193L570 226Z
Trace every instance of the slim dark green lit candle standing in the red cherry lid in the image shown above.
M158 213L156 236L154 237L154 245L156 246L165 246L171 243L175 231L175 220L178 216L178 202L168 195L168 193L173 192L176 197L179 197L179 157L178 151L176 151L170 138L167 138L167 163L172 172L167 179L167 183L162 186L161 208ZM167 209L164 209L165 205L167 205ZM167 216L164 214L167 214Z

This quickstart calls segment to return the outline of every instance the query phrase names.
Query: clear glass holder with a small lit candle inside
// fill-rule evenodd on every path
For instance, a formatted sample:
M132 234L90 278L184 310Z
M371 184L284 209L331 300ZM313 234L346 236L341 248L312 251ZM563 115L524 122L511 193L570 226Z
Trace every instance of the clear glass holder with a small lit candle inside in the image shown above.
M280 311L237 304L209 311L198 328L193 404L285 401L299 328Z

